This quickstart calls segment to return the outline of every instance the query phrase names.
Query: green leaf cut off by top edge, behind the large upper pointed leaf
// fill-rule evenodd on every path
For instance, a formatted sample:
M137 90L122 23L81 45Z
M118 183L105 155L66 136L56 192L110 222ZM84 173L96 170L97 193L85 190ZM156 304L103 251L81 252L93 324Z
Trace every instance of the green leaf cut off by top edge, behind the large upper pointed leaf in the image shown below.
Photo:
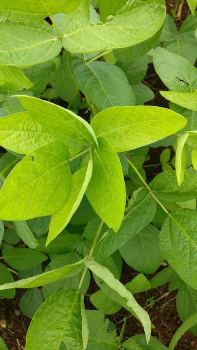
M127 0L98 0L100 19L104 23L108 16L116 16L117 12L125 6Z

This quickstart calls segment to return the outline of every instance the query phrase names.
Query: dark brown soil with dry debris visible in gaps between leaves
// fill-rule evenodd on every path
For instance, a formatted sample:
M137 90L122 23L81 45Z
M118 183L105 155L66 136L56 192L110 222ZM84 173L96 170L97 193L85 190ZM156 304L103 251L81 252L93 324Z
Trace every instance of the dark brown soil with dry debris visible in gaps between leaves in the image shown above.
M174 0L166 0L165 2L167 12L171 13ZM189 8L185 1L181 12L181 18L176 21L177 27L181 26L181 23L188 14ZM147 84L155 93L154 100L148 104L168 108L167 101L159 94L160 90L164 90L166 88L155 73L152 64L149 65L144 83ZM163 148L160 150L151 149L151 159L147 164L159 163L159 155L161 154L162 149ZM155 167L150 170L147 168L148 178L153 178L159 172L161 172L160 167ZM136 274L137 272L132 270L128 265L124 264L121 282L124 284L130 282ZM89 309L94 309L89 300L89 295L96 290L98 290L98 286L95 284L94 279L92 278L92 283L85 299L86 307ZM17 289L14 299L0 298L0 336L4 340L9 350L25 349L26 334L31 320L25 317L19 310L19 301L23 293L23 289ZM167 286L162 286L158 289L135 294L135 298L142 307L146 308L150 315L151 321L155 326L155 329L152 330L152 335L157 337L165 346L168 346L174 332L181 324L181 320L176 311L176 291L168 293ZM155 304L152 307L147 305L147 300L150 298L155 300ZM117 324L118 334L120 334L123 324L121 321L126 315L129 316L130 314L127 310L121 309L117 314L109 316L109 318ZM129 317L127 320L124 340L130 338L132 335L140 333L143 333L140 322L138 322L132 316ZM189 331L186 332L178 342L175 350L197 350L197 336L193 335Z

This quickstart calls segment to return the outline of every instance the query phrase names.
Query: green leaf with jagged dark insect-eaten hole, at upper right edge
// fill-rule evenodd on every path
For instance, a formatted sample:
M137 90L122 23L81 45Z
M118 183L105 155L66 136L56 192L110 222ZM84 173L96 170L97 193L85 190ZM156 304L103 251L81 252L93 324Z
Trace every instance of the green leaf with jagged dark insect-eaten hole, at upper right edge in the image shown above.
M197 89L197 68L184 58L158 47L153 54L153 63L169 90L188 93Z

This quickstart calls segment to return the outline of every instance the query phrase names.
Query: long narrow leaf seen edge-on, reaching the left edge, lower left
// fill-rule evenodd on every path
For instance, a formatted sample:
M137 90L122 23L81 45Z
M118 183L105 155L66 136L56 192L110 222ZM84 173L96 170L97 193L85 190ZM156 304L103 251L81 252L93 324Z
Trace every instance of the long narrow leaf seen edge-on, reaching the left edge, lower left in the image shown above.
M79 262L76 262L75 264L66 265L56 270L44 272L33 277L25 278L24 280L16 281L13 283L6 283L0 286L0 290L12 288L34 288L74 276L84 269L84 261L85 260L83 259Z

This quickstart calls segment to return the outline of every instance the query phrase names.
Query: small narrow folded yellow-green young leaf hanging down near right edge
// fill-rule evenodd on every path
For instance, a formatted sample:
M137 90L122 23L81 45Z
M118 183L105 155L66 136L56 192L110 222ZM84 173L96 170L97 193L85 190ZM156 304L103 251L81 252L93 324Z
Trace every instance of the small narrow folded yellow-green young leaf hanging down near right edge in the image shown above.
M176 178L178 182L178 186L180 186L184 180L185 175L185 167L187 162L185 143L189 136L189 132L186 132L181 137L178 138L177 147L176 147Z

